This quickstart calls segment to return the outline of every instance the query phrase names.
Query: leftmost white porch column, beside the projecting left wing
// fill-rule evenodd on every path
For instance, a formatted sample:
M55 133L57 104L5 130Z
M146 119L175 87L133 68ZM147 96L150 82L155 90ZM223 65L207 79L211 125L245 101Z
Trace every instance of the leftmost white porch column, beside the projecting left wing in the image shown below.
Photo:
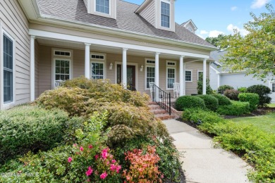
M30 37L30 101L35 101L35 36Z

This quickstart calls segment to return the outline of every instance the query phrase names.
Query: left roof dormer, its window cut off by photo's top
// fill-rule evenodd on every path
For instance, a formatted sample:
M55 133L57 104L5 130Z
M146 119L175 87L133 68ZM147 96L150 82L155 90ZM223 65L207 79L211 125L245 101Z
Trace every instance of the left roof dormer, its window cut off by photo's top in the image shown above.
M93 15L116 19L116 0L83 0L87 11Z

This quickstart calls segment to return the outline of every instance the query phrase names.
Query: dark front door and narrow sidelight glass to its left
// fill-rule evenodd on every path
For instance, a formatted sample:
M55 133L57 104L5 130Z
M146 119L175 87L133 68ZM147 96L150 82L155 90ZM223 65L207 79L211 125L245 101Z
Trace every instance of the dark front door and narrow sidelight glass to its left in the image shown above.
M121 84L122 82L122 66L117 66L117 83ZM135 65L127 65L127 85L128 89L135 90Z

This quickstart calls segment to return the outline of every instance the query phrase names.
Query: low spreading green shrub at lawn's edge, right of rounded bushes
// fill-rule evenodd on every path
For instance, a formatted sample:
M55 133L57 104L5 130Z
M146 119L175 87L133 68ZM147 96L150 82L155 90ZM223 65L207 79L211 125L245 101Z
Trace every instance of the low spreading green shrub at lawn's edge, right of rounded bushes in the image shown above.
M216 112L220 115L243 115L250 113L250 105L248 102L233 101L229 106L219 106Z

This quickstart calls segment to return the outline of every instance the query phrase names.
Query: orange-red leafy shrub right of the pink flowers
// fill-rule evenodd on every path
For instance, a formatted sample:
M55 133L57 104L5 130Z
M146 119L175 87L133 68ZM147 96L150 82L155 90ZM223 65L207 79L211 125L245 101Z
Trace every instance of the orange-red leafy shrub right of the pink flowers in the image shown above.
M133 149L126 153L126 160L130 162L129 170L124 170L123 176L127 182L162 182L161 172L157 166L159 156L154 146L148 146L144 154L142 149Z

